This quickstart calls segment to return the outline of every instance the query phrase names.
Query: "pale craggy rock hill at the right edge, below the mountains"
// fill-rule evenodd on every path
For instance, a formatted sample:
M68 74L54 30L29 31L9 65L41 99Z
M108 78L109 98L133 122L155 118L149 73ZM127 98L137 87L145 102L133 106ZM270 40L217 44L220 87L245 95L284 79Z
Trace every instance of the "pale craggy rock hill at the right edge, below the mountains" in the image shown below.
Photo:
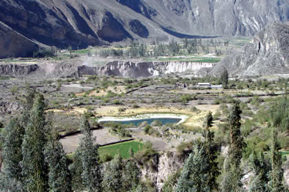
M226 68L230 76L289 73L289 23L267 25L244 49L224 58L211 71L220 75Z

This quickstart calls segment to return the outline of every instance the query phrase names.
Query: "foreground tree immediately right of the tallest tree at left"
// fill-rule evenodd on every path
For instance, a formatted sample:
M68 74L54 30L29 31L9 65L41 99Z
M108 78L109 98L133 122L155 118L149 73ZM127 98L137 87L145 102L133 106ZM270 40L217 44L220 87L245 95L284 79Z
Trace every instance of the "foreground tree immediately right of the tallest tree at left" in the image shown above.
M57 140L56 130L52 130L45 145L45 162L48 165L48 184L50 191L72 191L71 175L62 144Z

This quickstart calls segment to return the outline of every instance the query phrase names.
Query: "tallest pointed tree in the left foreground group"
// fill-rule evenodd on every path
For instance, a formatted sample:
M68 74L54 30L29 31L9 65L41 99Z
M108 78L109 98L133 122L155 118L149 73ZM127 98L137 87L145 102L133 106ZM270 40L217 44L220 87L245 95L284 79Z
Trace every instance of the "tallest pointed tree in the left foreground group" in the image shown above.
M22 175L26 191L47 191L47 166L44 160L45 104L43 95L34 101L22 144Z

